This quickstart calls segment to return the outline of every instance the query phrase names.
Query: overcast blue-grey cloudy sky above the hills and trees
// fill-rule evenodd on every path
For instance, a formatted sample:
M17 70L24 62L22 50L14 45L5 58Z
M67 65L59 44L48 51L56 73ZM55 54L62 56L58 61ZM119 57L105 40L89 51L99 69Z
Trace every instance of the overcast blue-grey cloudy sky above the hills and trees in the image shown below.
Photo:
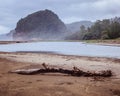
M50 9L65 23L120 17L120 0L0 0L0 34L14 29L20 18Z

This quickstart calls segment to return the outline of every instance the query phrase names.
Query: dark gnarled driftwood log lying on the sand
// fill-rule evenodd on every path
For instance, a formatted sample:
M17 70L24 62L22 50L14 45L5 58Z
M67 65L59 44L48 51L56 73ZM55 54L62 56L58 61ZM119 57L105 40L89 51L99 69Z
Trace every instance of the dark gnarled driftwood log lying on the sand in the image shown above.
M46 66L45 63L42 64L44 68L42 69L20 69L15 71L10 71L11 73L17 73L22 75L33 75L39 73L63 73L68 74L71 76L85 76L85 77L94 77L94 76L101 76L101 77L110 77L112 76L111 70L103 70L100 72L84 72L77 67L73 67L73 70L62 69L62 68L49 68Z

